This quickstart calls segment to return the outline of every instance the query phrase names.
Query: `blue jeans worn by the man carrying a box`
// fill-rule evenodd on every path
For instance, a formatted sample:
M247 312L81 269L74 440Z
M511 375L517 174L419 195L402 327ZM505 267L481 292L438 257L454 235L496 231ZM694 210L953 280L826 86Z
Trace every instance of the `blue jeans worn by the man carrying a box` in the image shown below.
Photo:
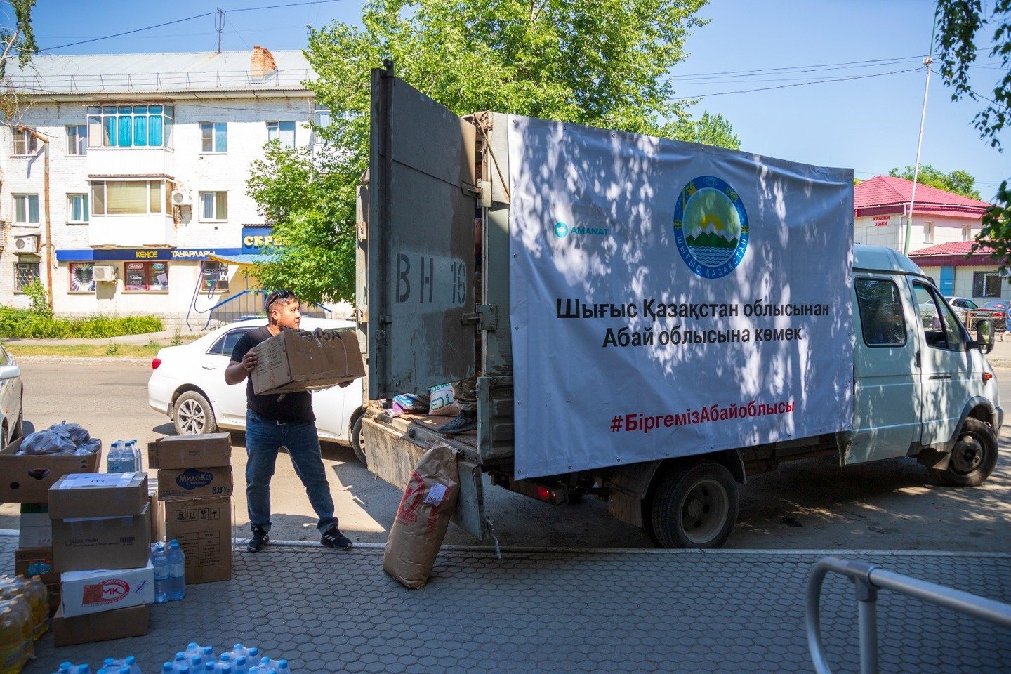
M252 409L246 410L246 500L250 524L270 531L270 479L274 476L277 451L288 450L295 475L305 486L309 503L325 534L337 525L334 497L330 493L327 472L319 454L315 423L285 423L266 419Z

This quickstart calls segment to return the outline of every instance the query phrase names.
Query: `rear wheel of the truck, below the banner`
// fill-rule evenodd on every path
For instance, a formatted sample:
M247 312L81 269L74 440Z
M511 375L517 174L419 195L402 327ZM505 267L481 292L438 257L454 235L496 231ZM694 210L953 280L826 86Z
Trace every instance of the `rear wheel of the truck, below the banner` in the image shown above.
M650 501L650 529L663 548L720 548L737 522L734 476L714 461L678 465L660 474Z

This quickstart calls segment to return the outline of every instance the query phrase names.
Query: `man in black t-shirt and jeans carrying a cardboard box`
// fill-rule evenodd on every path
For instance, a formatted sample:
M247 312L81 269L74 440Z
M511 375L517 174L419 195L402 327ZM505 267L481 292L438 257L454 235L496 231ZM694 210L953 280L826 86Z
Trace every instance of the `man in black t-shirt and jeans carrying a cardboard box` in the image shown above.
M256 395L250 374L256 369L253 348L279 334L283 329L298 329L301 312L298 298L287 290L267 295L265 306L269 324L250 330L239 339L232 351L232 362L224 370L224 381L246 384L246 497L249 504L253 538L247 548L251 553L264 549L270 537L270 479L274 475L277 452L288 450L295 474L305 486L309 503L319 518L320 543L328 548L349 550L351 541L341 534L334 516L334 498L327 482L316 435L312 398L308 391L282 395ZM347 386L347 382L342 386Z

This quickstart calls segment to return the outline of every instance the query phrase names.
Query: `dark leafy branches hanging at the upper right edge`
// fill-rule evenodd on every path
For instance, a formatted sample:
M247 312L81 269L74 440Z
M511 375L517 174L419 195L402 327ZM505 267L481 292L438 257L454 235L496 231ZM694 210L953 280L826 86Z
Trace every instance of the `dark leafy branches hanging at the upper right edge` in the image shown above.
M937 47L944 83L953 89L951 98L963 96L985 103L973 120L980 137L994 150L1002 152L1001 132L1011 123L1011 0L994 0L984 13L980 0L938 0ZM989 95L978 93L970 84L970 69L978 55L977 36L989 32L986 51L999 60L1000 78ZM1001 182L993 205L983 216L983 229L976 237L973 250L989 247L1001 269L1008 267L1011 253L1011 188Z

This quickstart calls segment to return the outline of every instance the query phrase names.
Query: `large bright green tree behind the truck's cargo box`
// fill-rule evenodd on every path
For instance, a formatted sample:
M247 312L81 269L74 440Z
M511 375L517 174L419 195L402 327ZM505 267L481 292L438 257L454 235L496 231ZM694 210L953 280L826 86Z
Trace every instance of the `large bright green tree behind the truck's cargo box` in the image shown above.
M367 0L362 28L311 30L307 86L333 122L313 157L274 148L248 191L287 246L255 273L307 300L354 290L355 191L368 164L369 73L396 74L457 114L495 110L729 148L729 121L676 101L705 0ZM326 247L320 249L318 247Z

